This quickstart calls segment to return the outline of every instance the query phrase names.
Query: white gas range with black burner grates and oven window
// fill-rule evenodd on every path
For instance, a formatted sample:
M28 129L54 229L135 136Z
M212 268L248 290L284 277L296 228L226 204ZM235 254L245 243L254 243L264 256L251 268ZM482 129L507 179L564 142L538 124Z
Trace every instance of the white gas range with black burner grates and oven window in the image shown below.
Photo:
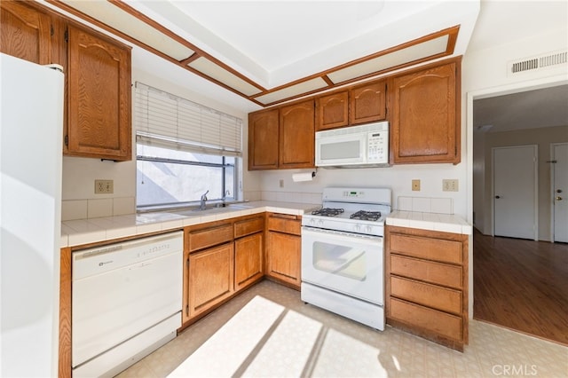
M302 218L302 300L384 329L384 218L390 188L329 187Z

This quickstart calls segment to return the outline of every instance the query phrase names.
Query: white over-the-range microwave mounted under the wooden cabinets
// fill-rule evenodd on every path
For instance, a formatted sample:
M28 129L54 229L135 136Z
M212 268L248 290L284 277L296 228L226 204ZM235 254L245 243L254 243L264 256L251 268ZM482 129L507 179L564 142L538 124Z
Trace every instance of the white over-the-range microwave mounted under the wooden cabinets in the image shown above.
M389 167L389 122L316 131L316 166Z

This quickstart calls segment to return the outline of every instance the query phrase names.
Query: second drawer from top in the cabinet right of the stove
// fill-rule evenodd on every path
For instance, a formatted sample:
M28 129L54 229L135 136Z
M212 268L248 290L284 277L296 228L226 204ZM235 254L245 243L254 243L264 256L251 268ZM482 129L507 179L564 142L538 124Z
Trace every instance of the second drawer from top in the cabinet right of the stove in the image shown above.
M461 266L419 260L413 257L390 256L390 272L399 276L431 283L462 287Z

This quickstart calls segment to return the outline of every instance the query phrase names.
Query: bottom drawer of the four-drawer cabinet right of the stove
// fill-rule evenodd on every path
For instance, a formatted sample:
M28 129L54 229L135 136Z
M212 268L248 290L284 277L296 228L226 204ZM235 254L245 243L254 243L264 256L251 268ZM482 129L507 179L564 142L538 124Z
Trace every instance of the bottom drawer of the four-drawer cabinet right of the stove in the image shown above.
M461 341L463 337L461 332L462 319L460 317L422 307L418 304L400 301L396 298L390 298L387 304L392 319L403 321L413 327L421 327L454 340Z

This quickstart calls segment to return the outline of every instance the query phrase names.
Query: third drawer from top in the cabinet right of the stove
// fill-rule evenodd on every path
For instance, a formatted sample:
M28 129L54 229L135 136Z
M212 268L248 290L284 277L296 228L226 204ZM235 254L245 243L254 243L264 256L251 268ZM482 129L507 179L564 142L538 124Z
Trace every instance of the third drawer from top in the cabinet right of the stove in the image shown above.
M459 290L390 276L390 295L441 311L461 314L462 293Z

